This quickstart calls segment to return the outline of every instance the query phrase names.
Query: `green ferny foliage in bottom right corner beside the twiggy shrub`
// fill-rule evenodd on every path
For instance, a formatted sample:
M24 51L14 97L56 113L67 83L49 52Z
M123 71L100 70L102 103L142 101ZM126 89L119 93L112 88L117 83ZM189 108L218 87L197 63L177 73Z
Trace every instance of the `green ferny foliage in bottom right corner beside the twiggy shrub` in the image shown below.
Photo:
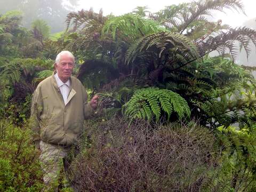
M222 150L220 166L211 175L210 191L255 191L256 132L219 127L218 141Z

